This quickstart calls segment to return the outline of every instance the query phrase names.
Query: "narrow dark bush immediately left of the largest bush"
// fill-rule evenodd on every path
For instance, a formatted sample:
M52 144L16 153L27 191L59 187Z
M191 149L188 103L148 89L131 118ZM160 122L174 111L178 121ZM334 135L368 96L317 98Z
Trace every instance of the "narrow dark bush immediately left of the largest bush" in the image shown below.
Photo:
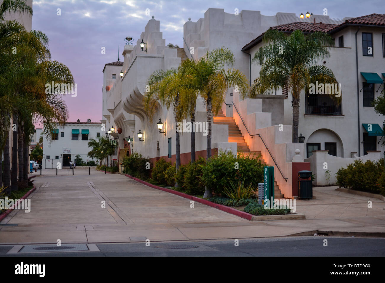
M186 190L187 194L194 196L204 194L204 182L201 178L203 167L205 165L206 159L203 157L199 157L195 162L186 164L186 171L183 176L183 188Z

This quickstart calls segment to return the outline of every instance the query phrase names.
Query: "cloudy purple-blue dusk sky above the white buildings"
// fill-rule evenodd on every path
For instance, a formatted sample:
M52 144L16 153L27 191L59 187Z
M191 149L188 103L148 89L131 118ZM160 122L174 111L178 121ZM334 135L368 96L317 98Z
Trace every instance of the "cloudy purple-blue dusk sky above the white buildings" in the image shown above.
M239 12L256 10L267 16L277 12L322 15L327 8L330 18L340 19L385 13L383 0L33 1L32 29L49 37L52 60L67 65L77 84L77 96L65 96L69 108L68 121L91 119L99 122L102 119L104 65L117 61L118 56L123 60L124 39L131 36L135 44L151 16L160 20L160 31L166 45L172 43L182 47L184 23L188 18L192 22L204 18L208 8L223 8L226 13L234 13L236 8ZM61 15L58 15L58 9ZM146 15L146 9L149 9L149 15ZM105 47L105 54L101 52L102 47Z

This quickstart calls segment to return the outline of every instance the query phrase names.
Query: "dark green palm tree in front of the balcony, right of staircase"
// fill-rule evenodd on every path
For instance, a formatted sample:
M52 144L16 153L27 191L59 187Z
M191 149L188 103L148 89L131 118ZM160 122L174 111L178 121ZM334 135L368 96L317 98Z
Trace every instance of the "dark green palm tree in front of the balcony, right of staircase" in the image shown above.
M286 87L293 95L293 142L298 142L298 117L301 90L305 93L311 82L337 83L333 72L326 66L316 65L330 56L326 46L334 45L330 35L315 32L304 35L295 30L290 36L277 30L264 34L268 45L261 47L253 58L262 65L259 77L251 86L249 97ZM337 103L340 98L331 96ZM243 96L244 98L244 96Z

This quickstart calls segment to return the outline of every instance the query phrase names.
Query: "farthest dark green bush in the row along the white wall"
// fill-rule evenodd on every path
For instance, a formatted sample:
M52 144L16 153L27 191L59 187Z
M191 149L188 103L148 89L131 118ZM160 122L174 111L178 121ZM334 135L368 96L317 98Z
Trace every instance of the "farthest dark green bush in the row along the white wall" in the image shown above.
M124 173L136 178L147 180L150 178L150 170L146 169L147 162L150 163L149 157L143 157L142 154L134 152L130 156L125 156L122 160Z

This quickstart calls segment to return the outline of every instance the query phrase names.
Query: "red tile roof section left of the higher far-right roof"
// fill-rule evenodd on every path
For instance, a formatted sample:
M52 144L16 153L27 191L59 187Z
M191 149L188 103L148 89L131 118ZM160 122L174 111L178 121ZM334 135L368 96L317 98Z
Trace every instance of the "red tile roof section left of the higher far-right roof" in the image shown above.
M304 33L311 33L311 32L329 32L330 30L336 27L338 27L338 25L334 25L331 23L294 22L294 23L284 23L283 25L276 25L275 27L271 27L269 29L278 30L280 32L293 32L295 30L302 30ZM248 47L247 49L250 49L251 47L261 42L262 37L265 33L266 32L259 35L259 37L257 37L256 39L251 40L251 42L249 42L244 47L242 47L242 49L245 49L245 47Z

